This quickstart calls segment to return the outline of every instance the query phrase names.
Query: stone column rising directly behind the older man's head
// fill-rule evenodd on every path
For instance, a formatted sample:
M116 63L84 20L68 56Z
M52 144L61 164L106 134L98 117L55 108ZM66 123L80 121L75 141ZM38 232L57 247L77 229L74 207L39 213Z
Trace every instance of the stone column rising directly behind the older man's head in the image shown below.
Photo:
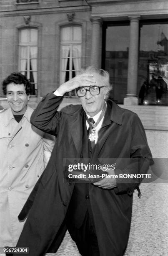
M101 51L102 51L102 19L90 18L92 22L92 46L90 65L101 68Z

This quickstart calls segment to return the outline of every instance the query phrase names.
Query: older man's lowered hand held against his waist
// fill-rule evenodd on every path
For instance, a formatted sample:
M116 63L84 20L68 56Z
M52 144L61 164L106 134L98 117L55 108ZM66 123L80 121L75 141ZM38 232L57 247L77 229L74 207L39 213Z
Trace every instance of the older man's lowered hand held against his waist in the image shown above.
M107 171L109 175L115 175L113 170ZM115 178L104 178L98 182L93 183L93 185L98 186L102 189L113 189L114 187L117 187Z

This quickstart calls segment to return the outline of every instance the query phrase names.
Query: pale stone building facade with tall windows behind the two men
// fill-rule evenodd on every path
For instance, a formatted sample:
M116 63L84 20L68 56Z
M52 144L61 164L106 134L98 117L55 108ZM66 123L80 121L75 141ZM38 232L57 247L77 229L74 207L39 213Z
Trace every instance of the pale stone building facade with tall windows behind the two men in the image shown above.
M110 73L110 97L125 105L144 82L155 104L161 77L157 103L168 105L168 1L1 0L0 82L20 71L37 100L89 65Z

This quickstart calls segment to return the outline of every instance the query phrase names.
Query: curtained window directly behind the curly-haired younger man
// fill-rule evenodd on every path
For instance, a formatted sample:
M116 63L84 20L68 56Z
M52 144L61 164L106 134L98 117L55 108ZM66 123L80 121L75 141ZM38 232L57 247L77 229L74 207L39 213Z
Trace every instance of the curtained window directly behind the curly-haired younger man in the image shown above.
M19 33L19 70L30 81L30 95L37 95L38 30L21 29Z

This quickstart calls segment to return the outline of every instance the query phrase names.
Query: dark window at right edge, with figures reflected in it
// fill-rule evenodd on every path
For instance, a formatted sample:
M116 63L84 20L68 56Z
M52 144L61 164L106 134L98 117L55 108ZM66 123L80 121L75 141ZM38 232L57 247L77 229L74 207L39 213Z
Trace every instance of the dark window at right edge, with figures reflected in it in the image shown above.
M168 20L140 21L138 93L146 88L143 104L168 105Z

